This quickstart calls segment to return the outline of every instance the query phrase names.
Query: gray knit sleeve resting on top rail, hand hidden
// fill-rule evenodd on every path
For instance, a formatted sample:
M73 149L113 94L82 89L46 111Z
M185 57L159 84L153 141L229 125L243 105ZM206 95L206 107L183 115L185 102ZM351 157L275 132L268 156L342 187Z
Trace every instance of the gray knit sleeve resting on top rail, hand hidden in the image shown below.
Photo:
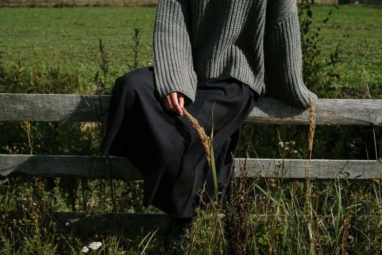
M264 81L269 93L302 108L309 93L302 80L300 26L296 0L268 0L264 31ZM317 96L312 93L313 103Z

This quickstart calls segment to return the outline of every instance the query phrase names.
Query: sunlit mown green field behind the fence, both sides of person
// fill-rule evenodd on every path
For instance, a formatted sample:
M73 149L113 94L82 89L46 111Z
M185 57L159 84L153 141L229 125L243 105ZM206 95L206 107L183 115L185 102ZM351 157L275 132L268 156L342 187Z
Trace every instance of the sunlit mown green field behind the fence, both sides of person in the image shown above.
M330 10L332 14L328 16ZM115 75L129 71L134 54L133 27L141 28L139 65L152 63L155 8L13 8L0 9L3 58L16 63L42 56L66 70L94 73L99 68L98 40L106 43ZM322 58L329 58L342 40L342 77L337 85L363 88L363 67L369 73L371 94L380 97L382 84L382 9L361 5L315 6L314 27L321 27ZM329 21L323 23L323 20ZM343 37L349 35L348 38ZM117 77L115 77L117 78ZM352 95L354 96L354 95ZM361 95L362 97L362 95Z

